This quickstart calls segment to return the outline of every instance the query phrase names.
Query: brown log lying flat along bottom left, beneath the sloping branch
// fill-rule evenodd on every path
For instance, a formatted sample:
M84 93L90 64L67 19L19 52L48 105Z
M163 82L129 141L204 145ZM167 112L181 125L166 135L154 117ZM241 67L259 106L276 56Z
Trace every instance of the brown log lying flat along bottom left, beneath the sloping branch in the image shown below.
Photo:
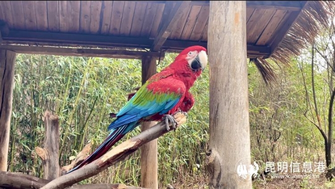
M0 188L31 189L40 188L47 184L49 180L37 178L28 174L0 171ZM126 186L123 184L82 184L73 185L67 188L74 189L140 189L140 187ZM145 188L142 188L145 189Z

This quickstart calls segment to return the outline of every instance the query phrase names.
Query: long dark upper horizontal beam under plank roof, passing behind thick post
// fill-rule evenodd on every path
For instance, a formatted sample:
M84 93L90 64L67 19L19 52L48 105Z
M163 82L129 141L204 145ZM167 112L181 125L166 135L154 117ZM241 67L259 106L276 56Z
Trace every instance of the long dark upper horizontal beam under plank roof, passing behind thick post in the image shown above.
M74 45L85 45L85 46L98 46L98 47L105 47L105 48L129 47L129 48L147 48L147 49L151 47L154 41L153 39L147 39L147 38L113 37L113 36L99 36L99 35L87 35L87 34L61 34L61 33L51 33L51 32L27 32L27 31L9 31L9 34L6 36L2 36L2 38L3 38L3 41L7 44L34 44L34 45L35 44L38 44L38 45L53 44L52 46L66 46L66 45L74 44ZM194 45L207 48L206 42L166 40L162 46L162 49L168 49L171 51L181 51L187 47L194 46ZM47 45L47 46L51 46L51 45ZM26 47L29 47L29 46L26 46ZM23 47L17 47L17 48L23 48ZM41 49L47 48L47 47L37 48L37 47L31 46L31 48L35 48L34 51L41 53L41 52L44 52L44 50L41 50ZM247 44L246 48L247 48L248 53L259 54L262 56L266 56L270 54L270 48L267 46L253 46L253 45ZM92 50L93 51L91 52L93 53L94 49ZM24 51L26 52L26 50ZM52 52L55 52L55 50L51 50L51 49L49 49L49 51L50 51L49 54L51 54ZM69 50L66 50L66 52L63 52L62 55L74 56L73 53L74 54L76 53L92 54L92 53L87 53L88 50L85 50L85 51L78 50L74 52L73 51L74 50L71 50L71 48L69 48ZM33 52L33 51L31 50L28 52ZM115 52L118 52L118 51L115 51ZM69 54L66 54L66 53L69 53ZM105 56L104 54L109 54L109 58L113 58L111 57L112 56L111 54L113 53L111 50L96 51L94 53L100 53L103 55L103 57L107 56L107 55ZM156 55L153 55L153 56L156 56Z

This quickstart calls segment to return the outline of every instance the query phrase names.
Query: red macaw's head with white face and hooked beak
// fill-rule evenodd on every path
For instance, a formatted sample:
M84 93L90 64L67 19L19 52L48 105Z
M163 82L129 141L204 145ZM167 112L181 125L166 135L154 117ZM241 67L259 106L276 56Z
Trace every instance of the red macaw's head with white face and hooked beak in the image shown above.
M188 47L182 50L175 60L184 63L186 61L189 69L201 73L207 66L206 49L201 46Z

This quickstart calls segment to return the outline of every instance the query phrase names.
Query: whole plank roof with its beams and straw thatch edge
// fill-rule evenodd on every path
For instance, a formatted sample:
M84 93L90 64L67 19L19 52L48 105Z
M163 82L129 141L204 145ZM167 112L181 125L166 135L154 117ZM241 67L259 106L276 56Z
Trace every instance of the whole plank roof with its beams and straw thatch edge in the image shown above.
M333 1L246 1L247 56L265 81L275 80L267 60L288 65L328 26L333 8ZM208 16L209 1L0 1L0 48L157 57L192 45L206 47Z

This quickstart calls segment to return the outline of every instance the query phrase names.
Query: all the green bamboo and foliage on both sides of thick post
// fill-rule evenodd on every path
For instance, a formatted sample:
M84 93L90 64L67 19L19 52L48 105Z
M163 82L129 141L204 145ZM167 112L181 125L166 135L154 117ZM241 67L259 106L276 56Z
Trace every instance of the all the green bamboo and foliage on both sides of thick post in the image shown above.
M173 61L168 54L157 71ZM309 59L292 60L292 66L277 71L278 84L266 87L253 64L248 64L249 119L252 158L259 161L322 160L323 138L304 116L306 90L311 94ZM302 71L300 70L303 67ZM279 69L276 69L279 70ZM325 73L316 72L315 90L320 116L326 117L329 92L324 89ZM127 94L141 84L138 60L18 55L10 131L9 170L42 176L40 159L34 148L44 142L44 111L59 117L60 166L67 165L88 142L93 148L107 136L116 113ZM205 69L191 93L195 105L187 123L157 139L159 184L193 183L206 177L205 150L209 122L209 74ZM232 128L233 129L233 128ZM121 141L140 132L134 129ZM121 142L120 141L120 142ZM117 143L119 144L119 142ZM117 145L116 144L116 145ZM126 183L139 185L139 151L81 183ZM301 182L305 187L305 182Z

